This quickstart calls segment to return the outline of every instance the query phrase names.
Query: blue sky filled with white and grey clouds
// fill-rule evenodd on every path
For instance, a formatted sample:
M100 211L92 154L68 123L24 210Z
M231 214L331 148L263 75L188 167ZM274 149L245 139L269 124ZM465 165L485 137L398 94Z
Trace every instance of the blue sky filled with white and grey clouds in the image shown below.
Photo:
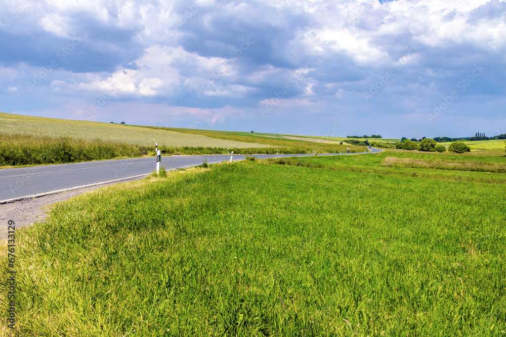
M506 0L3 0L0 112L317 136L506 133Z

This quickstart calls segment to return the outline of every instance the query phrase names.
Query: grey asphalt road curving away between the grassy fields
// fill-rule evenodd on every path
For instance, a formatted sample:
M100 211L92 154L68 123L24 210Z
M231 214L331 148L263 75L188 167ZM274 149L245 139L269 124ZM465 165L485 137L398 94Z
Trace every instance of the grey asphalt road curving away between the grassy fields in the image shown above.
M372 149L377 153L380 150ZM343 155L357 155L343 154ZM364 154L364 153L362 153ZM334 156L338 154L319 154ZM258 158L303 157L306 155L255 155ZM171 156L162 157L161 166L165 169L192 167L202 164L229 161L230 155ZM243 155L234 155L233 160L243 160ZM39 197L58 191L80 188L92 184L141 176L156 169L156 159L132 158L103 160L96 162L57 164L45 166L20 167L0 170L0 204L15 200Z

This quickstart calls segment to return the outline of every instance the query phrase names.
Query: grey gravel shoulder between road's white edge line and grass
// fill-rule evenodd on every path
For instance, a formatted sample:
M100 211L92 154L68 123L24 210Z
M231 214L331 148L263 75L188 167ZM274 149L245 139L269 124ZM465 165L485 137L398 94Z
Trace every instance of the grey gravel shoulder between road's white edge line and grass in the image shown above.
M125 179L121 182L135 181L143 178L144 177ZM2 241L7 241L7 228L9 220L14 221L16 229L30 226L35 222L44 222L47 219L49 211L54 204L65 201L74 196L78 196L85 192L112 184L114 183L84 187L49 196L21 200L14 203L0 205L0 237L2 238Z

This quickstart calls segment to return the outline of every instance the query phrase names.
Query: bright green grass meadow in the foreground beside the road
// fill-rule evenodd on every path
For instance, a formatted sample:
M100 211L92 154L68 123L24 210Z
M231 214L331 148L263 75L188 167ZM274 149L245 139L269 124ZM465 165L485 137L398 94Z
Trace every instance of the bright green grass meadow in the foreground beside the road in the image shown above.
M249 158L89 192L17 230L13 335L505 335L506 176L394 157L504 163Z

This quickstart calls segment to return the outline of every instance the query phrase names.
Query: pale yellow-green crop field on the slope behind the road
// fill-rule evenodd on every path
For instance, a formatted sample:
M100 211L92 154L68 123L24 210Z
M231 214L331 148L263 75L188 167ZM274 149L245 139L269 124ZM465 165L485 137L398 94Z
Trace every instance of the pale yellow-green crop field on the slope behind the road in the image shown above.
M117 141L142 146L205 147L205 148L266 148L269 145L217 139L198 134L162 129L139 128L130 125L74 121L45 117L31 117L0 113L0 134L27 134L34 136L61 136L83 140Z

